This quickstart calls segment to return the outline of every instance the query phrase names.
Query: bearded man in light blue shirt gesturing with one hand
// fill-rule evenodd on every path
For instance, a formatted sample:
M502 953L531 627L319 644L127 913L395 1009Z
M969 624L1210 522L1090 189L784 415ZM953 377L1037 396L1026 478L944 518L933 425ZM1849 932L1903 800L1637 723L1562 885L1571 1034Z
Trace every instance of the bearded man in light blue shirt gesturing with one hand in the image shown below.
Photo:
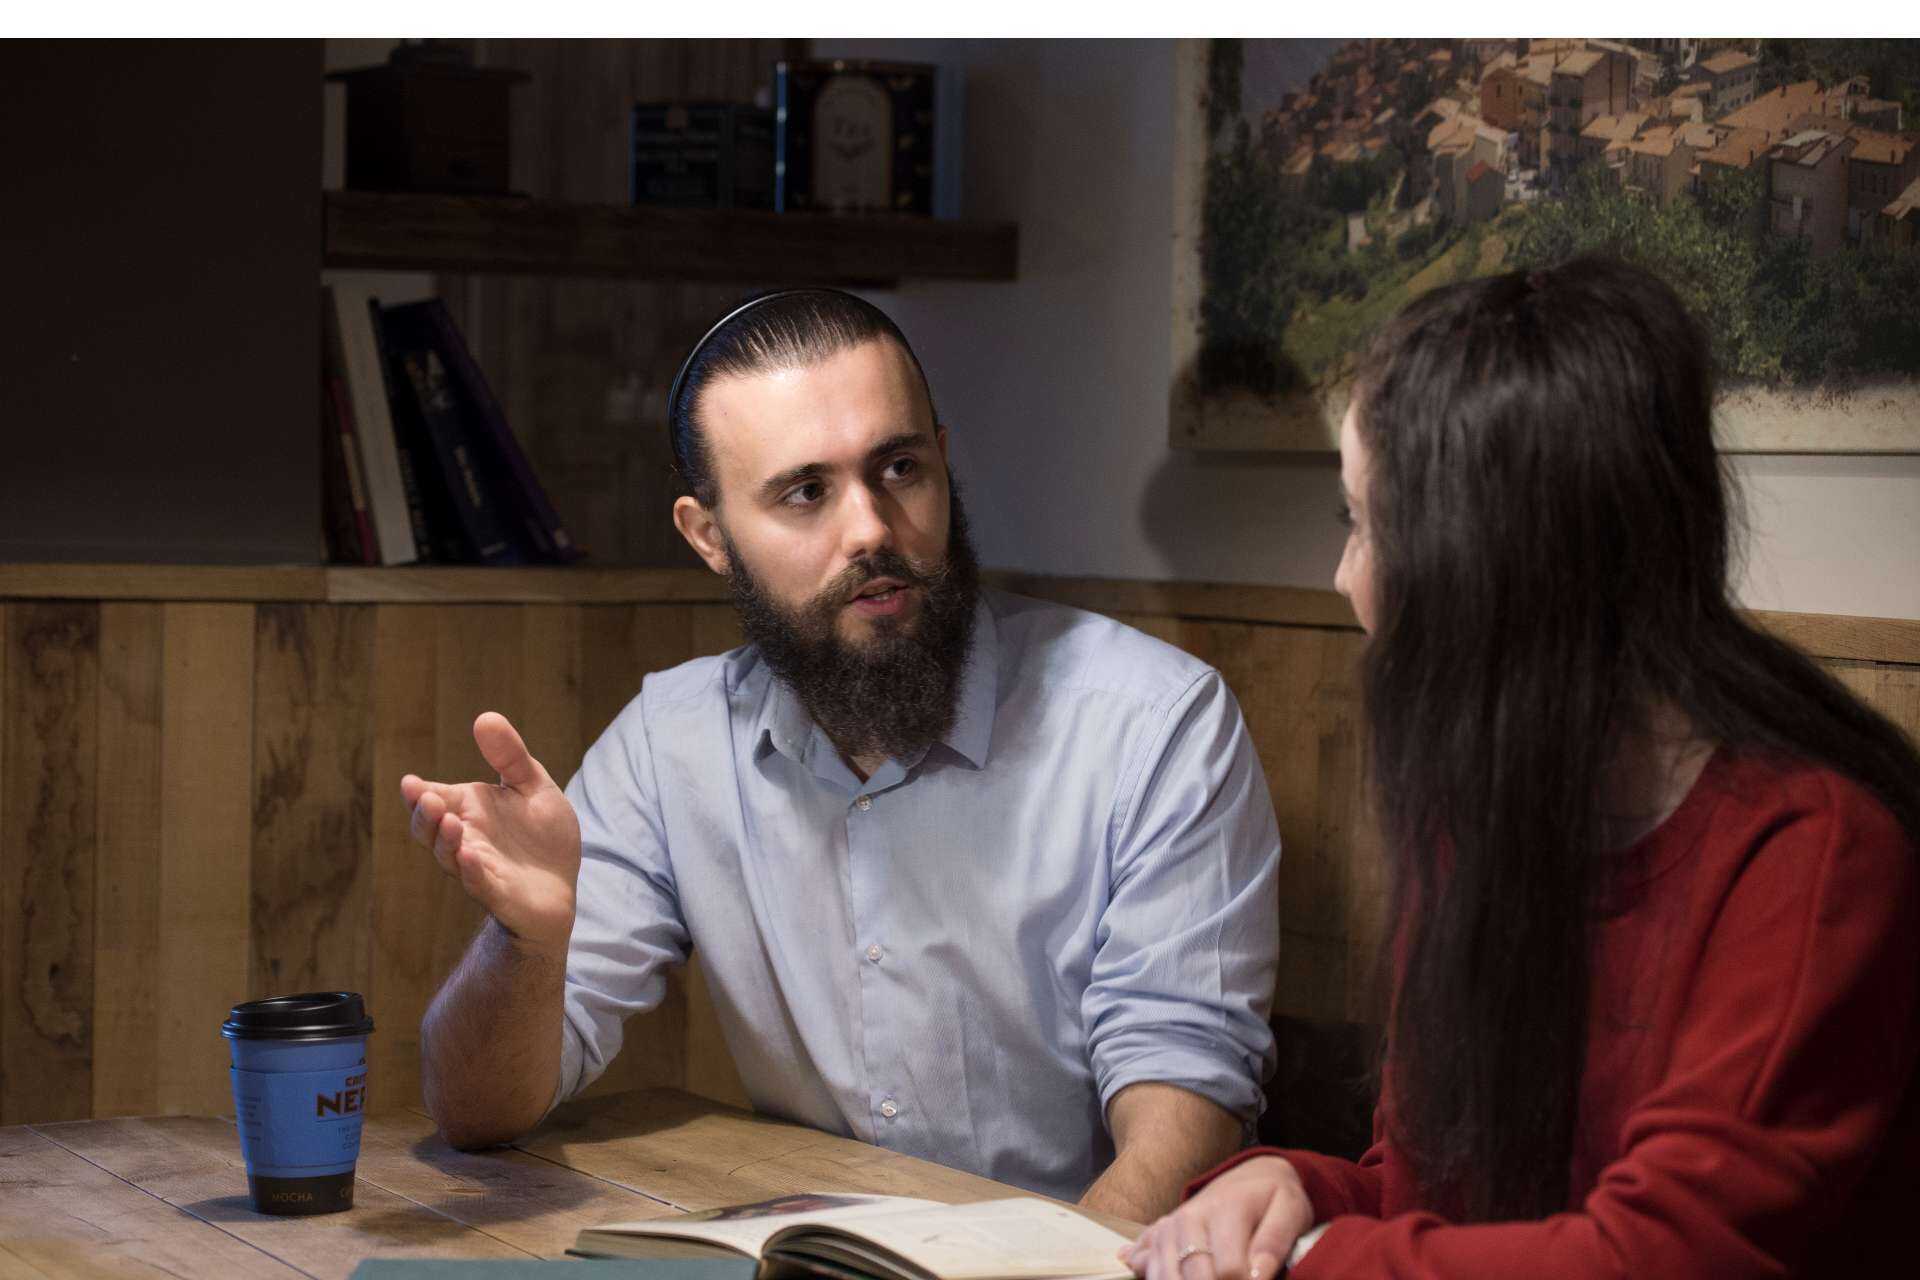
M668 397L674 522L747 645L647 676L564 794L401 793L490 921L422 1023L455 1146L586 1088L699 948L756 1109L1150 1221L1273 1067L1279 833L1217 672L979 587L920 361L789 290Z

